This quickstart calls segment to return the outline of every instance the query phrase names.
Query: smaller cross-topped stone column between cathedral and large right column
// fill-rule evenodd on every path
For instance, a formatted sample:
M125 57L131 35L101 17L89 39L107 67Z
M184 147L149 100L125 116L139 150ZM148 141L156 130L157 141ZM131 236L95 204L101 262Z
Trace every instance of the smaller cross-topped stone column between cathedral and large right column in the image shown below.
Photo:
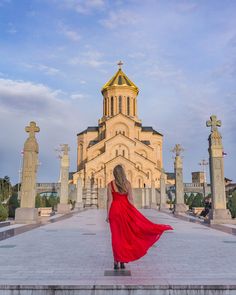
M176 144L173 152L175 152L175 213L184 213L188 210L188 206L184 203L184 183L183 183L183 163L180 153L183 148L180 144Z

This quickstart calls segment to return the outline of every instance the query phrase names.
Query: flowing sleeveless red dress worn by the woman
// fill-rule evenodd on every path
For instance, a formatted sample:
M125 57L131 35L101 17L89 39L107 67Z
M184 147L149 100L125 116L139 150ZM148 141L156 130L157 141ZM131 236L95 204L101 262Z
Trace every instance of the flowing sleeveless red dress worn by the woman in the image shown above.
M114 190L111 182L113 201L109 211L112 250L115 261L130 262L147 253L170 225L155 224L143 216L128 200L128 194Z

